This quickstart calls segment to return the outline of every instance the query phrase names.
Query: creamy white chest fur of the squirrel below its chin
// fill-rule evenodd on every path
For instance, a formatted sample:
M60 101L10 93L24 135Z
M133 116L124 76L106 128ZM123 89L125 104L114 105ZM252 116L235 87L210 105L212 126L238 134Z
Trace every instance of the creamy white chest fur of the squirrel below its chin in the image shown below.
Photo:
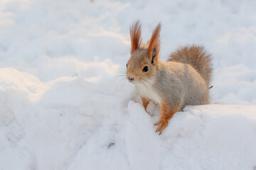
M150 84L137 84L135 87L139 92L140 96L149 98L156 103L161 103L161 98L159 94L156 92L155 89L153 89Z

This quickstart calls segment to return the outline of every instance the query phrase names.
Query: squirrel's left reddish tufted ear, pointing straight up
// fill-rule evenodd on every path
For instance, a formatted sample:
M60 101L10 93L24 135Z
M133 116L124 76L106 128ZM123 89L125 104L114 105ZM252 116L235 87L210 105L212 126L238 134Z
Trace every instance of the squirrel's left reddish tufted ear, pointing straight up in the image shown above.
M131 53L133 50L137 50L141 44L142 44L142 30L141 30L142 24L137 21L136 23L133 23L130 27L130 36L131 36Z

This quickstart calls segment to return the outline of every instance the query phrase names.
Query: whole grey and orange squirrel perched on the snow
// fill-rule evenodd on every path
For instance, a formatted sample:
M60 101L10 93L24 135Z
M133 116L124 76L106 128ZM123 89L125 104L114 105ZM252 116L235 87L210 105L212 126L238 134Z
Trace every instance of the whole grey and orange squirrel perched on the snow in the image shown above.
M180 47L169 60L159 60L159 23L153 30L148 47L142 47L141 24L130 27L131 57L127 62L127 79L135 85L146 110L149 101L159 103L161 119L156 132L163 132L169 120L186 105L209 103L212 74L210 55L201 46Z

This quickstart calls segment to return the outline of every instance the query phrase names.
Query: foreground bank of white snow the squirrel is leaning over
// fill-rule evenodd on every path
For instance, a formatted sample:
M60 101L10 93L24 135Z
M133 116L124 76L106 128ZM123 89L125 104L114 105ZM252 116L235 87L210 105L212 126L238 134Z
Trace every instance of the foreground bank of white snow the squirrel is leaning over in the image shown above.
M159 106L146 113L132 91L0 69L0 169L255 166L256 106L187 106L158 135Z

